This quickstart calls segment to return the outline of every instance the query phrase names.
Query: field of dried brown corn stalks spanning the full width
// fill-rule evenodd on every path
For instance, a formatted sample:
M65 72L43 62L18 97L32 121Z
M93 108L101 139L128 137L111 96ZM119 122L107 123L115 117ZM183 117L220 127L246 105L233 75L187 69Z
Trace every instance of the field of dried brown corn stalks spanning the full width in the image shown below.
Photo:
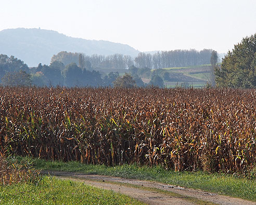
M255 89L0 87L0 152L236 172L255 163Z

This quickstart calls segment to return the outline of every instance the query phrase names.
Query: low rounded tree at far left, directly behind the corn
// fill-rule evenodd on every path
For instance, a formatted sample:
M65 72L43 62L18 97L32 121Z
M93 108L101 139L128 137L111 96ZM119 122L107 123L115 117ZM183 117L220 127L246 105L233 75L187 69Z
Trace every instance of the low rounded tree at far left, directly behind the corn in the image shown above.
M25 71L7 72L3 78L2 83L5 86L31 86L31 75Z

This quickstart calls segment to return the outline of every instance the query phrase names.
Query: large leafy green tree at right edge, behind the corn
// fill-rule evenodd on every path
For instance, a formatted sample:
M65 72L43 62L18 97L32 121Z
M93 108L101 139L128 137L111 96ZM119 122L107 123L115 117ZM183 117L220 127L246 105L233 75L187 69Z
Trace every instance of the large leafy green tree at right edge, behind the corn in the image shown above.
M232 52L215 67L216 85L220 87L256 87L256 34L242 39Z

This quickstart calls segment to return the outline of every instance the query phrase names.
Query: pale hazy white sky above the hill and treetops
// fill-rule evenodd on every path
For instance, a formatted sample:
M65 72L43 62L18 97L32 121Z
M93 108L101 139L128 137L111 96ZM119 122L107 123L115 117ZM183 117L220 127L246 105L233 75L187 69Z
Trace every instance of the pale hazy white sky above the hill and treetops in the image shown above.
M255 0L8 0L0 30L39 28L140 51L231 50L256 33Z

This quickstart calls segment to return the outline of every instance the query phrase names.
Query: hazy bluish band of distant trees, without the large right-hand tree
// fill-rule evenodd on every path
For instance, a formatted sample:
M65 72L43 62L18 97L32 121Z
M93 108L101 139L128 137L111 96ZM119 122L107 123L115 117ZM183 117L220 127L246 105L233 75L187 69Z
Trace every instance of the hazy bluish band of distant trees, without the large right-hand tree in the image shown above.
M0 83L3 85L36 85L36 86L146 86L142 78L151 78L148 85L163 87L165 75L151 72L152 68L192 66L210 62L210 49L174 50L156 54L139 53L136 58L115 54L109 56L86 56L81 53L60 52L52 57L50 65L39 63L29 68L23 61L14 56L0 55ZM205 59L201 59L204 56ZM195 58L193 60L193 58ZM208 60L207 60L208 58ZM171 60L175 59L175 60ZM102 73L94 68L127 69L131 76L119 76L118 72ZM168 76L167 76L168 77ZM163 78L163 79L162 79ZM132 80L131 80L132 79ZM128 82L129 81L129 82ZM122 83L120 83L122 82Z

